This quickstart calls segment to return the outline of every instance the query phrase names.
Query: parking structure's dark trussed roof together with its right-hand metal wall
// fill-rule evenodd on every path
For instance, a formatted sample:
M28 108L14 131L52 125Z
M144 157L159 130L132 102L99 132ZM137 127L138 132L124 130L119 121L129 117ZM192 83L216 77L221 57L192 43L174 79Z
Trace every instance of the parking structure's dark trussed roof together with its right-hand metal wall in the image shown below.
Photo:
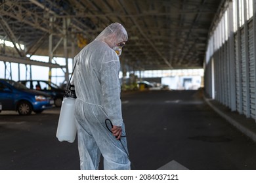
M255 118L255 1L233 0L11 0L0 3L0 60L5 78L12 64L61 68L68 58L112 22L124 25L129 42L121 69L126 72L205 69L205 92L232 111ZM12 47L9 46L12 44ZM48 62L33 55L49 56ZM54 58L65 58L58 64ZM18 73L20 78L21 73Z

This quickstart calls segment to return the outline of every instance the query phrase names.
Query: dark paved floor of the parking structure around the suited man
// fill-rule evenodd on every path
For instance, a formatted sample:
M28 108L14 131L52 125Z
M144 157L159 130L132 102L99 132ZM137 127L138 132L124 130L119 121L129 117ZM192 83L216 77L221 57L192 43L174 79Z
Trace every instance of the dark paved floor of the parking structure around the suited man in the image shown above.
M122 93L121 100L132 169L256 169L256 143L209 107L202 91ZM77 140L55 137L59 112L1 112L0 169L79 169Z

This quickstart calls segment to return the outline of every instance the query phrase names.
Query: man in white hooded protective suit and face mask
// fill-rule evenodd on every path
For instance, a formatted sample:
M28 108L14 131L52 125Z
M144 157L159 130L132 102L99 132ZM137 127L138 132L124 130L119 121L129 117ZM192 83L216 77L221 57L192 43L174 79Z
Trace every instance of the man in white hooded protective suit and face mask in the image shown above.
M101 154L104 169L131 169L119 84L119 55L127 40L123 25L110 24L75 56L75 121L81 169L98 169Z

